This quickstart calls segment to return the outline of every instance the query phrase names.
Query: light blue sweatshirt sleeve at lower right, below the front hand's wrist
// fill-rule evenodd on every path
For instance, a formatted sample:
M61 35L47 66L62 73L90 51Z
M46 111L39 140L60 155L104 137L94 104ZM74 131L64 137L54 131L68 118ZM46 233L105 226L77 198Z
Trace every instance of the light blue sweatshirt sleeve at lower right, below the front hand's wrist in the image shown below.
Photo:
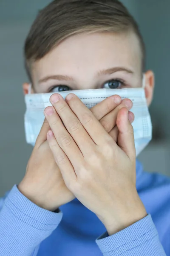
M104 256L166 256L150 214L116 234L105 232L96 244Z

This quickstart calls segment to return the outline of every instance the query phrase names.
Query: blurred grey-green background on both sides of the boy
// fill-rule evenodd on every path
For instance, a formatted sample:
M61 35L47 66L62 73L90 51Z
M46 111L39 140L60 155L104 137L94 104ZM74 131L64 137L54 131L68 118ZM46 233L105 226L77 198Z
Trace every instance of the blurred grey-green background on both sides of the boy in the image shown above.
M147 69L156 77L150 113L153 141L139 155L144 169L170 176L170 0L122 0L139 23ZM24 133L22 83L28 81L23 44L37 12L49 0L0 0L0 196L26 172L32 147Z

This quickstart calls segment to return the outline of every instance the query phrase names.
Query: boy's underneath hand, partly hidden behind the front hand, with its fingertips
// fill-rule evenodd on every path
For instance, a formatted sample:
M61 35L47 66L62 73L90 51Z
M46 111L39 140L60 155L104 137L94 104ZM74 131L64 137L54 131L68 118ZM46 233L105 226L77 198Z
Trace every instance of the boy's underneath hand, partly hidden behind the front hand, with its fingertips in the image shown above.
M118 99L117 103L113 99ZM117 141L118 134L115 126L117 113L122 107L127 107L129 110L132 107L132 102L129 99L120 102L121 98L119 96L108 97L91 108L91 112L115 141ZM133 122L133 113L129 112L129 118ZM38 206L54 211L61 205L73 200L75 196L65 186L59 167L46 140L49 129L50 126L45 119L28 161L26 175L18 189Z

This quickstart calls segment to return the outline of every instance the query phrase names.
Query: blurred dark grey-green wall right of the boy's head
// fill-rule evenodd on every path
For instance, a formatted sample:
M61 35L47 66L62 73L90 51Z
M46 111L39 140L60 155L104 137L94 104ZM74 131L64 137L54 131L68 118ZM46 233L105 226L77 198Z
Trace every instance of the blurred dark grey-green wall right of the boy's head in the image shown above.
M147 47L146 67L155 72L156 79L150 113L158 135L170 140L170 0L138 2L140 28Z

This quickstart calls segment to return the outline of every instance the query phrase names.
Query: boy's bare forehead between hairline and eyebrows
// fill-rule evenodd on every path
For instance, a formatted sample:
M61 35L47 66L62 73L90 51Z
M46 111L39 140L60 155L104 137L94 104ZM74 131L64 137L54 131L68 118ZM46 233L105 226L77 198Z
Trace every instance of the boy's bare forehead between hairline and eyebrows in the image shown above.
M122 66L134 73L142 70L139 40L133 32L82 33L65 39L34 62L32 75L33 80L55 73L78 76Z

